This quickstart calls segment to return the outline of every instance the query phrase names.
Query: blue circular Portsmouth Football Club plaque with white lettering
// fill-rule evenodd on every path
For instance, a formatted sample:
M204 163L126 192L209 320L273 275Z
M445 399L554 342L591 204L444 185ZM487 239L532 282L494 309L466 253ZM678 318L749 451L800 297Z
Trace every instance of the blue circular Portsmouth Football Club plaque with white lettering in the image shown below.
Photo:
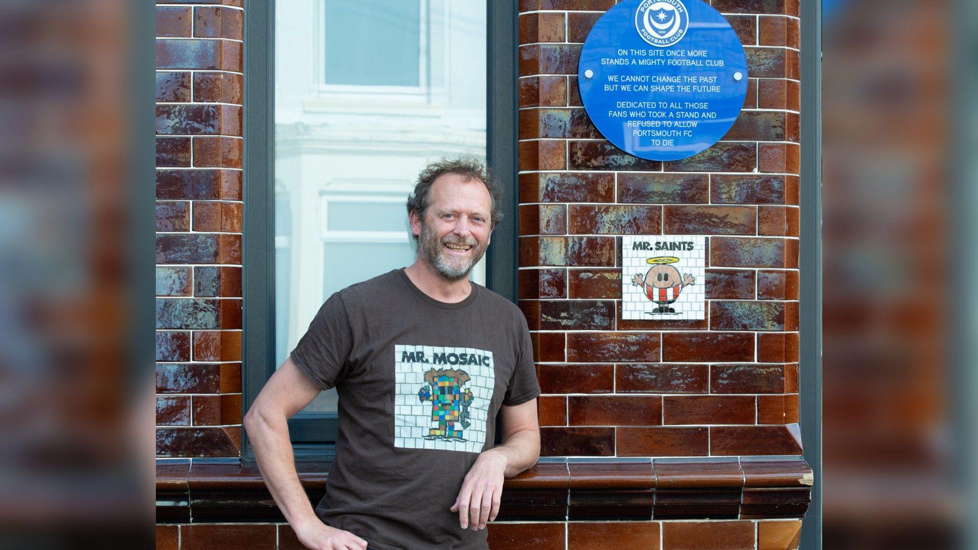
M588 116L616 147L686 159L733 126L747 58L730 23L701 0L624 0L588 34L577 82Z

